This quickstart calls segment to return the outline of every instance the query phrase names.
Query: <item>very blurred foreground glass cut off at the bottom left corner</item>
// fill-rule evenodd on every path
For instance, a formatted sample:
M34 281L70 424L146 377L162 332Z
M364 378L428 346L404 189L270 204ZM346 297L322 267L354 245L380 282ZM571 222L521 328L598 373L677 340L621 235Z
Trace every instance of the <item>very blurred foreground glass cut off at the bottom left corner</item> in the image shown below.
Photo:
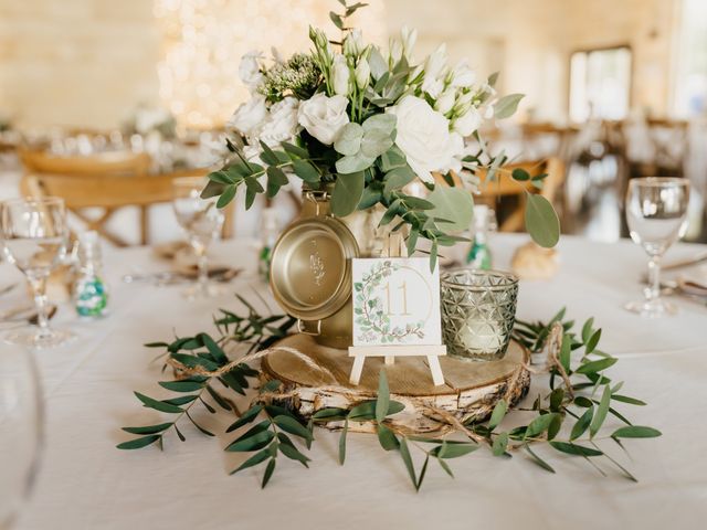
M9 529L28 497L42 447L43 410L32 353L0 346L0 529Z

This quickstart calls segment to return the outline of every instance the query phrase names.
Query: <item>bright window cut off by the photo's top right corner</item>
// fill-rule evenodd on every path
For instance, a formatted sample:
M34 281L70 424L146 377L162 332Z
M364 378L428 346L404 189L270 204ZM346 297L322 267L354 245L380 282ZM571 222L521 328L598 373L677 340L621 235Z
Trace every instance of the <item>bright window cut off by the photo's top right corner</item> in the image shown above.
M707 110L707 2L683 0L678 33L675 113L689 118Z

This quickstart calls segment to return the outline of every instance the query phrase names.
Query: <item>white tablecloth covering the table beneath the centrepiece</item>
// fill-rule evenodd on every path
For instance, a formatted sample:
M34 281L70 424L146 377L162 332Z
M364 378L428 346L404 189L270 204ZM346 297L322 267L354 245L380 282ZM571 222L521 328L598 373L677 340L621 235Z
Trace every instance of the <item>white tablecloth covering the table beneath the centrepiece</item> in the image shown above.
M498 266L508 264L521 241L496 237ZM678 245L668 257L697 251ZM159 417L140 407L133 391L167 395L156 384L159 365L149 362L155 350L140 344L210 329L218 307L236 305L232 293L266 290L253 276L242 277L231 284L230 295L188 304L179 287L124 285L122 274L166 267L149 251L135 248L106 257L113 314L86 324L63 307L54 324L71 327L80 339L36 356L46 395L46 447L19 528L700 528L707 518L707 308L677 300L682 312L664 320L624 311L622 304L640 296L637 279L645 267L642 251L629 242L606 245L568 236L560 253L562 268L555 279L521 284L519 317L547 319L567 305L579 322L594 316L603 327L602 349L620 358L610 374L626 380L625 393L648 402L621 409L635 423L663 432L655 439L626 441L633 462L613 444L606 446L639 484L608 467L609 477L601 477L581 459L548 449L539 451L557 475L523 455L499 460L479 451L450 462L455 480L431 466L415 494L399 456L380 449L374 437L350 435L346 466L339 467L337 435L327 432L317 433L310 469L279 462L265 490L260 468L228 475L244 459L221 451L231 435L207 438L184 425L187 443L170 434L163 453L157 447L117 451L115 445L130 437L120 426ZM224 243L217 254L234 264L255 259L253 246L243 241ZM3 279L15 274L4 267ZM546 386L541 380L534 384ZM200 417L221 432L232 421L225 414L205 416ZM611 426L613 418L608 422Z

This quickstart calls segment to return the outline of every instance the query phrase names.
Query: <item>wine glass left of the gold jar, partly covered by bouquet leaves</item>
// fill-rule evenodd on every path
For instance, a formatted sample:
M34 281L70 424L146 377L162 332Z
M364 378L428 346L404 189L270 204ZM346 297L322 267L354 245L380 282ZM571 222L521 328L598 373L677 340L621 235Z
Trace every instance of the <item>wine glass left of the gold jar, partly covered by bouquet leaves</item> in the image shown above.
M217 208L217 199L202 199L205 180L201 177L183 177L172 183L172 206L177 221L187 232L189 244L197 256L197 282L184 290L188 299L217 296L220 289L209 282L207 250L218 239L223 226L223 212Z

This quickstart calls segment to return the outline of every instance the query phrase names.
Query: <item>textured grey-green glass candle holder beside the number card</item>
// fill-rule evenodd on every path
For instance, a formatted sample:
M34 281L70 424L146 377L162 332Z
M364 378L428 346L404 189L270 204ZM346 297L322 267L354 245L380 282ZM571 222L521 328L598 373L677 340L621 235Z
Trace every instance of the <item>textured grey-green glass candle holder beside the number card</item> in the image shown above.
M516 320L518 278L462 268L442 274L440 280L447 353L474 361L503 359Z

